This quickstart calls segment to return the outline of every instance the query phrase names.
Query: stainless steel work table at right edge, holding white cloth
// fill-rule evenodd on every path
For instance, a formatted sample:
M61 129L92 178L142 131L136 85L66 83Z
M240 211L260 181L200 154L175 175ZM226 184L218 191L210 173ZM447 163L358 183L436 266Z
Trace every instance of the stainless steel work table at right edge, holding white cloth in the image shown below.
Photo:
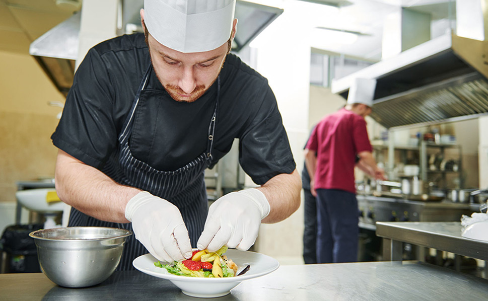
M401 260L402 242L488 260L488 242L461 236L461 222L376 222L383 238L383 259Z

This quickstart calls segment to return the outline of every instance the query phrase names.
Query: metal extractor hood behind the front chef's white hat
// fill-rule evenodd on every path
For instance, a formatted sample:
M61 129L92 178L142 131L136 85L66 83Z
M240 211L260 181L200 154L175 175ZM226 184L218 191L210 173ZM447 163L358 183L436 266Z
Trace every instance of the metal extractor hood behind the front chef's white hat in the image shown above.
M122 2L121 28L130 32L142 32L139 10L143 3L141 0ZM282 13L282 9L237 1L235 18L239 19L239 28L232 51L239 52L247 46ZM78 59L80 22L81 13L75 13L32 42L29 48L29 53L64 96L73 85L75 62Z

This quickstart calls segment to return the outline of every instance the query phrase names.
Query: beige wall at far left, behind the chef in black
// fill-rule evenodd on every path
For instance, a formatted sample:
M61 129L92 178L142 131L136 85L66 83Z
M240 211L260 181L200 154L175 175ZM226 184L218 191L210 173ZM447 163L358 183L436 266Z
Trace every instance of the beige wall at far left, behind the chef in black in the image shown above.
M0 51L0 202L15 201L16 182L54 177L50 135L64 103L34 58Z

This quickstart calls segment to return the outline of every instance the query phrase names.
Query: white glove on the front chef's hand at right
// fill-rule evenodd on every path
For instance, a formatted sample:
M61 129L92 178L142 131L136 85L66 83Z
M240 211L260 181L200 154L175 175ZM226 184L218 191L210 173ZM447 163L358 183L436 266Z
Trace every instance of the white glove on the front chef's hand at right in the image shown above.
M256 241L261 219L269 214L269 210L266 197L258 189L224 195L208 209L198 249L215 252L224 245L238 250L249 249Z

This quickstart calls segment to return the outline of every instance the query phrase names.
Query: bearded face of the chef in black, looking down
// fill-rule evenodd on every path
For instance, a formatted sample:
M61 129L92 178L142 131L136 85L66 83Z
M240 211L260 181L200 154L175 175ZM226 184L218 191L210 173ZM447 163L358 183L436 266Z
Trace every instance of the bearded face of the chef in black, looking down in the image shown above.
M226 42L211 51L183 53L160 44L149 33L147 43L156 76L168 94L182 102L197 100L212 86L229 52Z

